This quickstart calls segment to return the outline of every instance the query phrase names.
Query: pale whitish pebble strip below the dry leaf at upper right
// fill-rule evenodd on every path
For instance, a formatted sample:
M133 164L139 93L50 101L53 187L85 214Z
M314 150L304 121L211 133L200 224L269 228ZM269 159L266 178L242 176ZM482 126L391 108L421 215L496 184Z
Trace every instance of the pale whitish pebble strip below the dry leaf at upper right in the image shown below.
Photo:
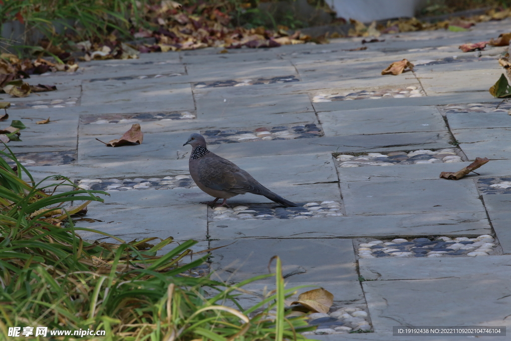
M422 97L424 93L417 89L416 86L408 86L400 89L381 89L377 91L361 90L354 93L337 93L337 94L318 94L312 98L312 102L332 102L332 101L349 101L349 100L379 100L382 98L405 98L405 97Z

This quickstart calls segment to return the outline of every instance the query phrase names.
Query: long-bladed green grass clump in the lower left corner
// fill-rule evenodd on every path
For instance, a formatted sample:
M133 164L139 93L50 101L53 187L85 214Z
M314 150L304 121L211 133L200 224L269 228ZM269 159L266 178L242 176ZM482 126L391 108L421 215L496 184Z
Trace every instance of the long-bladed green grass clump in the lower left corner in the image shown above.
M79 189L65 177L64 183L36 184L13 155L0 153L18 169L0 158L0 339L17 327L20 333L33 328L25 337L41 341L84 335L112 341L283 340L305 339L299 332L313 329L303 316L286 316L284 299L295 288L284 289L279 259L277 289L243 309L237 292L273 274L226 285L191 276L189 270L207 257L184 262L192 240L159 256L172 237L155 245L149 242L157 238L126 243L75 228L73 215L92 200L102 201L95 194L103 192ZM64 185L72 190L49 192ZM69 206L75 201L85 202ZM79 231L118 242L87 242ZM37 327L48 327L47 335L36 336Z

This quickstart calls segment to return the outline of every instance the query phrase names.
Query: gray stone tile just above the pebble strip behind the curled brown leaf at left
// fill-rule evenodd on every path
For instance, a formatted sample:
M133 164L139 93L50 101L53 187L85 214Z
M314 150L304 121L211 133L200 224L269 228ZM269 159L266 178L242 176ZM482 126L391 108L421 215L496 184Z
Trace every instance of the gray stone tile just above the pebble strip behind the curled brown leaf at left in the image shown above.
M83 84L81 105L165 102L172 110L194 109L190 84L169 84L165 78ZM156 109L157 110L157 109Z

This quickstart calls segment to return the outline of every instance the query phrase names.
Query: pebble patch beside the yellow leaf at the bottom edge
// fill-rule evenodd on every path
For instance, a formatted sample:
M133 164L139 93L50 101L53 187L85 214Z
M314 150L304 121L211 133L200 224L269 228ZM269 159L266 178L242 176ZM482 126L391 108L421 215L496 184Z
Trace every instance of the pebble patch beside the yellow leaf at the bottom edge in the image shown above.
M333 309L331 309L333 310ZM309 315L309 325L317 326L315 331L302 335L346 334L352 331L371 331L367 321L367 308L343 307L329 313L315 312Z

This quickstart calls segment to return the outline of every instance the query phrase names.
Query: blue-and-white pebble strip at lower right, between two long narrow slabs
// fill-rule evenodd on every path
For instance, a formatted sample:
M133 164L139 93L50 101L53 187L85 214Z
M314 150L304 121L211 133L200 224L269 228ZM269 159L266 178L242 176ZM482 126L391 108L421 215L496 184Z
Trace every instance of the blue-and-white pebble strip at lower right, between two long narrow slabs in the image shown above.
M488 256L495 255L494 239L490 235L477 238L437 237L403 238L392 241L374 240L358 245L359 258L378 257L443 257L443 256Z

